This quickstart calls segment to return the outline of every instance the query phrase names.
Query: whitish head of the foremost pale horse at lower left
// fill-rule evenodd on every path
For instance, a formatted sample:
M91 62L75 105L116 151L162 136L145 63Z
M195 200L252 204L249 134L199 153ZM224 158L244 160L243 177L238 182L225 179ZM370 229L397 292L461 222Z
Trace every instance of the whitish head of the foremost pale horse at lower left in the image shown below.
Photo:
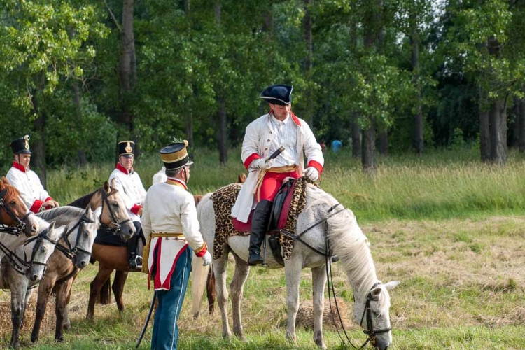
M29 269L26 271L26 277L30 281L36 282L43 279L45 269L48 266L48 259L50 258L55 246L62 235L66 232L66 226L55 228L55 221L53 221L48 228L32 237L24 244L25 256L29 257Z

